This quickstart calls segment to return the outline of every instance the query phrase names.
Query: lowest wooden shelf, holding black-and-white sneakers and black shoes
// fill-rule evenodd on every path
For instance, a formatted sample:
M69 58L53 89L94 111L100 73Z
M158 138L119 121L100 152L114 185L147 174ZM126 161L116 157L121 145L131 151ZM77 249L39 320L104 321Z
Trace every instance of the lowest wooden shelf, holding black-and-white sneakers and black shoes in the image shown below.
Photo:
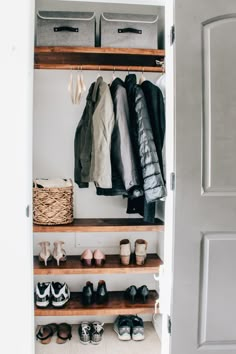
M35 307L35 316L90 316L90 315L129 315L141 313L153 313L155 301L158 294L155 290L149 292L149 297L145 304L130 304L124 299L124 292L109 292L109 301L104 305L92 304L83 306L81 302L82 293L71 293L71 298L64 308L49 306L46 309Z

